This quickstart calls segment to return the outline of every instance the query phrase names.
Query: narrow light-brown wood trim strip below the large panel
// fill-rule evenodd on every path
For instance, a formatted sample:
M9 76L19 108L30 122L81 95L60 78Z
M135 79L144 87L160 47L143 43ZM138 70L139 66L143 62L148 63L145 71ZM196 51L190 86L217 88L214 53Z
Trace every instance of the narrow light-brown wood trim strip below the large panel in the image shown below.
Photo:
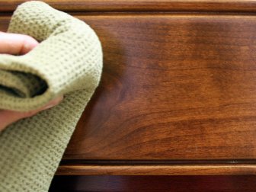
M256 174L256 165L61 165L57 175Z

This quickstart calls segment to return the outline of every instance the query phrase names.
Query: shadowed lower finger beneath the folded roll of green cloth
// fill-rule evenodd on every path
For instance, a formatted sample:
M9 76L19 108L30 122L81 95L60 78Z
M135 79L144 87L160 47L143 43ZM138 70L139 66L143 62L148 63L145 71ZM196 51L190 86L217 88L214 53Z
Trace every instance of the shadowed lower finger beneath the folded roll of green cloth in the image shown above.
M0 132L5 129L6 126L10 125L11 123L14 123L18 120L34 116L38 112L42 110L49 109L51 107L56 106L59 104L63 99L63 96L53 99L53 101L50 101L50 103L46 104L46 106L41 107L37 110L31 110L29 112L17 112L13 110L0 110Z

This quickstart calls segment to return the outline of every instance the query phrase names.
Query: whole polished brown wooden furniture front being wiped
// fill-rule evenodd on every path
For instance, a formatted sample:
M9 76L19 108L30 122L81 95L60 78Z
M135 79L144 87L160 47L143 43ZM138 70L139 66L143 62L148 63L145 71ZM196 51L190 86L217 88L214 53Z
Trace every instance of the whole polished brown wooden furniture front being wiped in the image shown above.
M0 30L20 2L0 0ZM46 2L104 50L51 190L255 190L256 1Z

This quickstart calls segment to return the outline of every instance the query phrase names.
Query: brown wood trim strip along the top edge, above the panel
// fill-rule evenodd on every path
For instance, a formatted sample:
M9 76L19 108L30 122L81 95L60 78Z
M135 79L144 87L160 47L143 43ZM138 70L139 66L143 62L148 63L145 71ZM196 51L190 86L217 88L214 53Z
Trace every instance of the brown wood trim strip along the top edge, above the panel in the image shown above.
M27 0L0 0L0 11L14 11ZM243 11L255 12L255 0L46 0L62 11Z

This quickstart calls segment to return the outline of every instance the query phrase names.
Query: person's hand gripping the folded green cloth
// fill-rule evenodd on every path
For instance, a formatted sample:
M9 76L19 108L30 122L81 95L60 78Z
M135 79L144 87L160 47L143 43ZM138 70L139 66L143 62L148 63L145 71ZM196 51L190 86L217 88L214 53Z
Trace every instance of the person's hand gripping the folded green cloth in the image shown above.
M0 31L0 53L22 55L28 53L35 46L37 46L37 44L37 40L34 40L33 37L23 34L6 34ZM49 104L46 104L46 106L29 112L0 110L0 132L4 130L6 126L14 123L15 121L34 116L41 110L46 110L55 106L56 104L59 104L59 102L62 101L62 98L62 96L56 98L53 101L50 101Z

